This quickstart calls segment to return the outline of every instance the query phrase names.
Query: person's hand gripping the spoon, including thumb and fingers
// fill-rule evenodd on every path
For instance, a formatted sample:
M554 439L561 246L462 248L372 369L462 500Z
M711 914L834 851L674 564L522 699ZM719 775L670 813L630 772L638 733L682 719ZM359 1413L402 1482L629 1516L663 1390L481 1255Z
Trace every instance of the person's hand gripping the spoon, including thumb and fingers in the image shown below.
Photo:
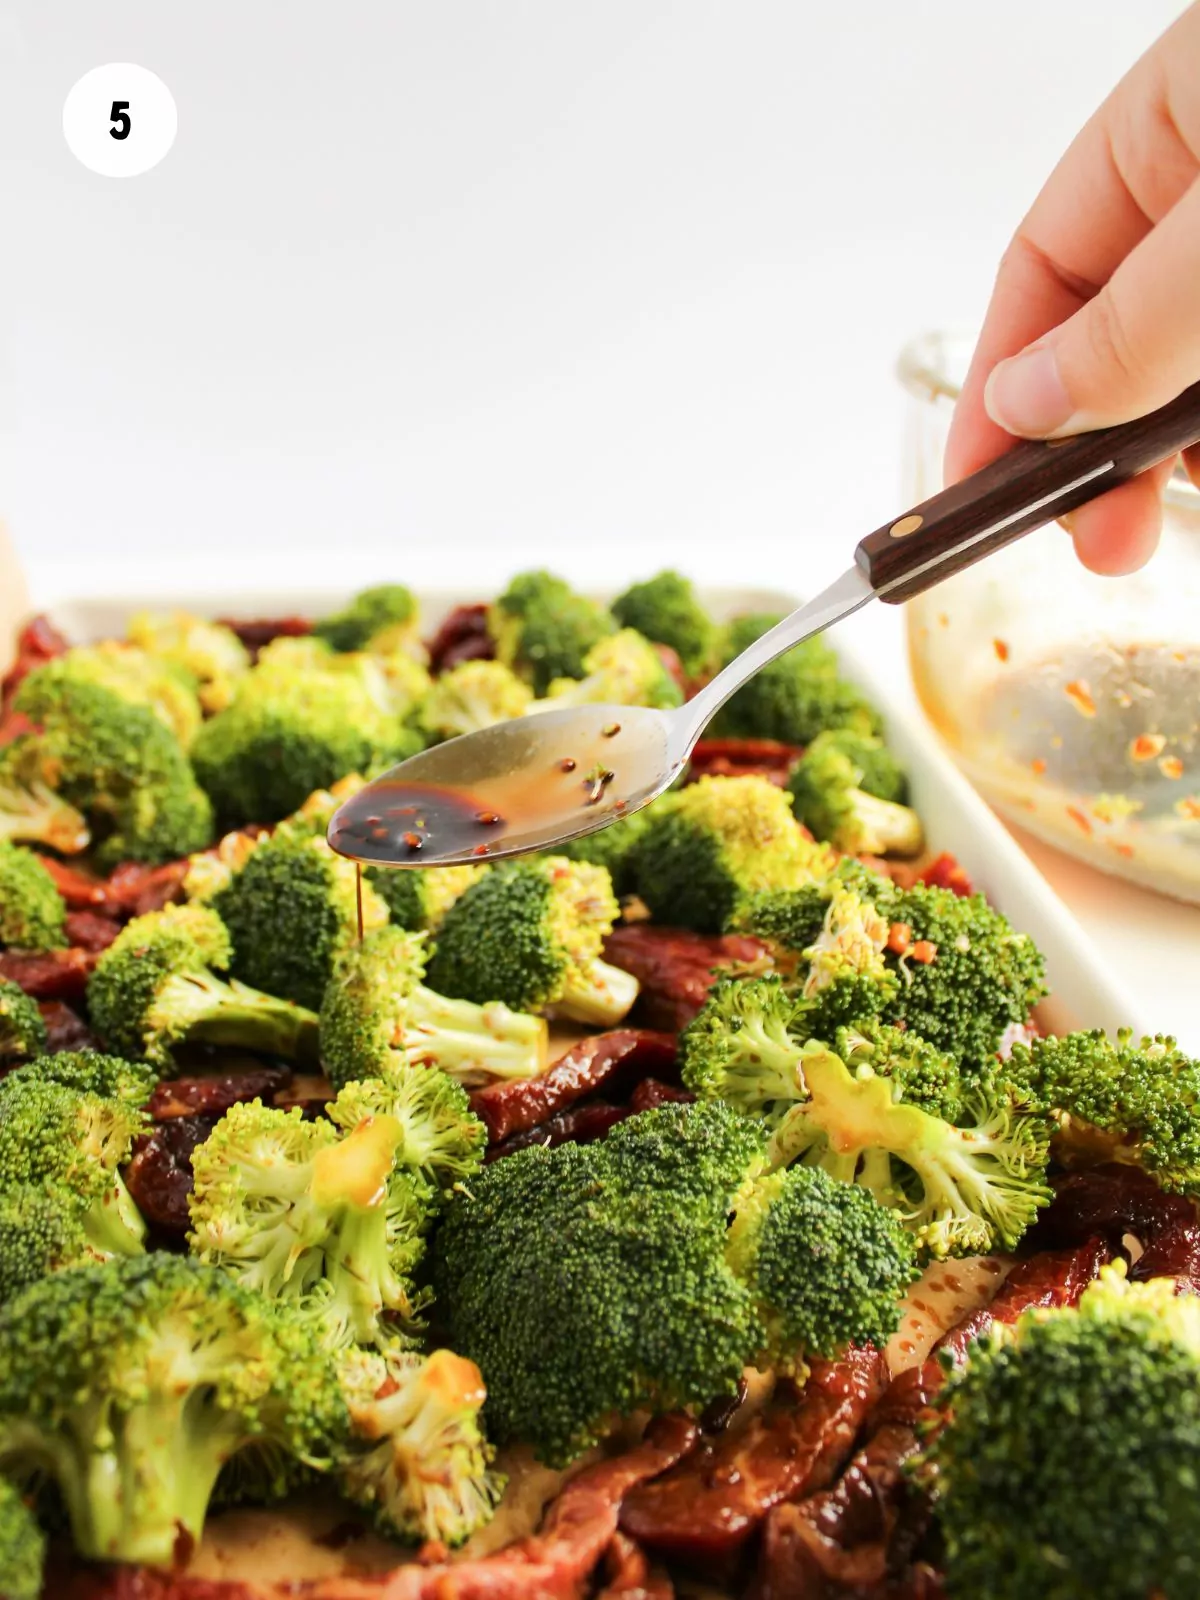
M955 410L947 483L1013 434L1128 422L1200 379L1200 3L1088 122L1000 262ZM1158 542L1174 462L1072 512L1094 573L1136 571ZM1200 485L1200 446L1187 469Z

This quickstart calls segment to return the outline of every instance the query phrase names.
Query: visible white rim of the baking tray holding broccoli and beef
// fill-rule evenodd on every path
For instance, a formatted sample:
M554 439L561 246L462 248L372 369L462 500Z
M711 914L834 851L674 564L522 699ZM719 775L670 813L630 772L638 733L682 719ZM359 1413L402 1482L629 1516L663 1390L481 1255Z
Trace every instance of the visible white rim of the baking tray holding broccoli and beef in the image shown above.
M40 603L69 638L85 642L120 637L133 610L186 606L202 616L323 616L334 611L344 598L338 592L302 589L139 595L136 603L107 595L61 600L43 597ZM432 630L453 606L486 598L486 594L470 587L426 589L421 598L426 627ZM704 592L704 600L717 616L790 611L798 605L794 595L773 589L710 589ZM888 741L910 773L914 805L925 821L930 845L952 851L976 886L1045 950L1051 1000L1043 1006L1043 1024L1056 1032L1072 1027L1104 1027L1114 1032L1125 1026L1152 1032L1136 998L1123 992L1075 918L949 762L934 736L909 712L896 707L888 685L859 666L853 650L838 640L837 630L832 642L843 659L846 677L869 690L886 717Z

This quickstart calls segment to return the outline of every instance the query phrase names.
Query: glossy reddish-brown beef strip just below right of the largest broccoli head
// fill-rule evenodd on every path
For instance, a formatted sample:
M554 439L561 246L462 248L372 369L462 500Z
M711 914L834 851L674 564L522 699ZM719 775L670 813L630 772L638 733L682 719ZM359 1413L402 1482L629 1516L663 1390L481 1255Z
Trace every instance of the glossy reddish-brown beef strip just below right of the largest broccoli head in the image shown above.
M672 1472L629 1494L622 1531L688 1566L730 1571L773 1506L837 1475L886 1376L874 1349L816 1362L792 1403L706 1440Z

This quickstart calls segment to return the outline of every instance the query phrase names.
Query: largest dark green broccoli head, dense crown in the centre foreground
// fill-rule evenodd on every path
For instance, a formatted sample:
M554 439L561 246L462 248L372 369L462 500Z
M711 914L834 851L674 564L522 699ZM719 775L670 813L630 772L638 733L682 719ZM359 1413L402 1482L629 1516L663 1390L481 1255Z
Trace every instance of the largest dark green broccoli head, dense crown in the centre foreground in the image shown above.
M754 1126L690 1106L614 1133L485 1166L435 1238L438 1310L483 1373L490 1434L550 1464L637 1410L734 1394L762 1342L725 1262L733 1197L762 1165Z

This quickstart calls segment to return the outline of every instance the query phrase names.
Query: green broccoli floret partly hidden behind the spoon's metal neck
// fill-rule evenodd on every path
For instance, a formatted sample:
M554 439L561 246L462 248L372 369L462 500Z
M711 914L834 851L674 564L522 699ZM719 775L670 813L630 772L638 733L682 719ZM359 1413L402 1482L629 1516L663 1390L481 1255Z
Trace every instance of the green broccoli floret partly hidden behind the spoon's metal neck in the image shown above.
M722 666L781 621L781 616L736 618L725 632ZM838 677L834 650L816 635L755 672L718 712L712 728L733 739L811 744L826 728L878 733L880 717L859 688Z

